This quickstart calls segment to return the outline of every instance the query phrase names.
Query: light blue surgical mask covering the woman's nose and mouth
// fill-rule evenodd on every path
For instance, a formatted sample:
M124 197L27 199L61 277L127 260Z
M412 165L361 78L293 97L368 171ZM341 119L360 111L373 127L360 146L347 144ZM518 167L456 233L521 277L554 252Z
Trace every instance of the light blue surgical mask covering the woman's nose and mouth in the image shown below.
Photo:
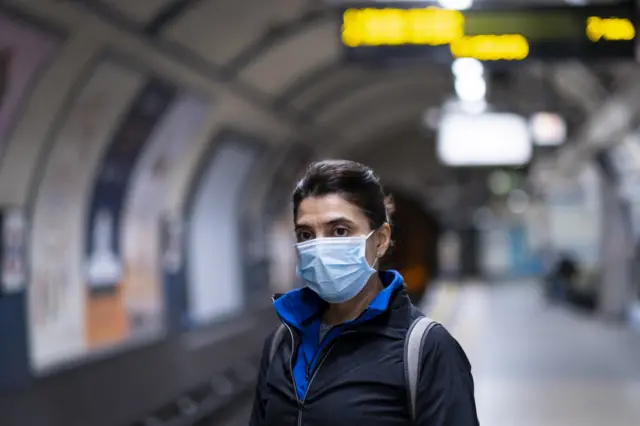
M369 266L366 237L316 238L296 244L297 274L329 303L353 299L376 270Z

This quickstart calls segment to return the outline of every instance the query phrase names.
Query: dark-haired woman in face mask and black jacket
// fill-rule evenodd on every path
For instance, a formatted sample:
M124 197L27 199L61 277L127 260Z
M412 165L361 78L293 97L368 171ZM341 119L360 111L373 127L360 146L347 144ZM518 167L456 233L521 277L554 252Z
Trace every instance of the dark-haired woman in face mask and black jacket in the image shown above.
M377 271L391 243L379 179L351 161L312 164L293 193L298 275L274 297L287 332L267 338L251 426L477 426L469 361L437 325L423 339L412 420L405 337L420 312L402 276ZM273 354L273 357L271 357Z

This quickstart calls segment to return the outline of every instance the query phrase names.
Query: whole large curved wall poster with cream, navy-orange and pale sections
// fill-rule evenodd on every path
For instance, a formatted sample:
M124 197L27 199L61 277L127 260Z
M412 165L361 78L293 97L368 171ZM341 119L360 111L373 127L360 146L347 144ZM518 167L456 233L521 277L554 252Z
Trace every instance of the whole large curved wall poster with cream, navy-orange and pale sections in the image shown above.
M164 194L210 105L110 59L81 84L34 200L29 346L41 373L163 331Z

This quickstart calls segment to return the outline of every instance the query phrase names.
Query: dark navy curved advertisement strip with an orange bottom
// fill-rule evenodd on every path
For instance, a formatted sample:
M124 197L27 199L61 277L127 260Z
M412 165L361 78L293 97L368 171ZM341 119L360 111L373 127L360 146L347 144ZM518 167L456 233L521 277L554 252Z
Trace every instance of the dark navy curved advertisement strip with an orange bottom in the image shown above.
M127 310L125 289L129 288L127 279L131 275L124 259L123 212L143 149L166 118L176 94L174 86L150 80L129 107L97 168L87 212L84 249L85 337L90 348L120 343L129 337L133 320L144 321L139 317L130 318ZM157 252L156 246L154 254ZM135 324L135 328L141 327L144 325Z

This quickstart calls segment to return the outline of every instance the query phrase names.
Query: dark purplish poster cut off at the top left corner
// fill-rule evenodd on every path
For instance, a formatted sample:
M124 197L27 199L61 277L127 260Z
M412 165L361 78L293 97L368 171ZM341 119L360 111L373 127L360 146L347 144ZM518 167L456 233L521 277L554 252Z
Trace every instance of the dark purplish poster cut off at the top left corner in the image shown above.
M38 75L59 46L55 35L0 12L0 157Z

